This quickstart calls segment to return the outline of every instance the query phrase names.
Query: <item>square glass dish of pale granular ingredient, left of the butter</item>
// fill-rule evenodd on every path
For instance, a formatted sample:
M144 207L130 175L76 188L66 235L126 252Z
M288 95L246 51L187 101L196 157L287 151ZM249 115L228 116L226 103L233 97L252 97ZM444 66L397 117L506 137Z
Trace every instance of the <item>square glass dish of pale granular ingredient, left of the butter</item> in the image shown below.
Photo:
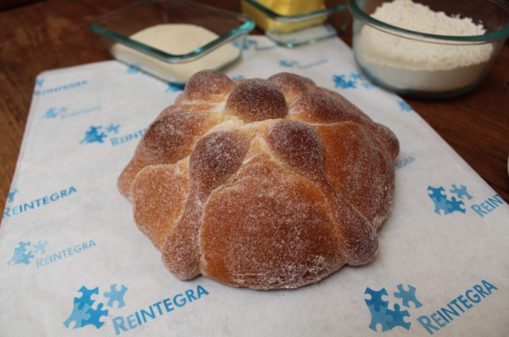
M241 13L186 0L144 0L90 25L114 58L181 86L197 71L237 61L253 28Z

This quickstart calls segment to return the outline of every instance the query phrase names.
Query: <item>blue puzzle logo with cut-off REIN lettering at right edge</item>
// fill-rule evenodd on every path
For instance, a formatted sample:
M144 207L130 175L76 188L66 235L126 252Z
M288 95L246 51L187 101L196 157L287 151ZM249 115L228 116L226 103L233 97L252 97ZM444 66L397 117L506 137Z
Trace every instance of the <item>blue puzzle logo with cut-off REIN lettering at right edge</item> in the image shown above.
M482 202L478 202L468 192L467 186L461 184L459 186L452 184L448 189L443 186L428 186L428 196L433 201L435 213L439 215L448 215L455 212L465 214L467 212L466 206L468 206L478 216L484 217L505 203L499 194L483 198ZM466 205L466 202L471 204Z

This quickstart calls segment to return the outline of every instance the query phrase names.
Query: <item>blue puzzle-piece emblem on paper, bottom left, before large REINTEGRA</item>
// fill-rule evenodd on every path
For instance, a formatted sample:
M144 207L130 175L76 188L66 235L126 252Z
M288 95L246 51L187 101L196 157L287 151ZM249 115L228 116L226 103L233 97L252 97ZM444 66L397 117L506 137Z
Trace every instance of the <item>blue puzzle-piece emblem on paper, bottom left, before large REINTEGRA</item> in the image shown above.
M110 285L110 290L104 292L103 296L108 298L107 306L110 308L121 308L125 306L124 295L127 287L122 285L120 290L117 290L117 284ZM94 303L97 299L92 299L92 296L99 294L99 287L88 289L86 286L81 286L78 292L81 293L80 297L74 297L72 312L64 321L64 326L70 328L71 323L74 322L73 329L82 328L87 325L93 325L96 329L100 329L104 325L101 321L102 317L108 316L108 310L103 310L104 303L97 303L94 308ZM116 303L116 305L114 305Z

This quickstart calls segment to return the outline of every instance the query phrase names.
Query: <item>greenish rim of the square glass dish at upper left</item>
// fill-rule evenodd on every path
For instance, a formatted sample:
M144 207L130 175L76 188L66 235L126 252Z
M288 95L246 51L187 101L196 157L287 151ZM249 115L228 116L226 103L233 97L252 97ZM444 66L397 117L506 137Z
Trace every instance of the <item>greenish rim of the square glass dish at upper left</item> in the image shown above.
M204 4L200 4L200 3L195 3L195 2L191 2L191 1L186 1L186 0L172 0L173 2L176 2L176 3L182 3L182 4L191 5L191 6L195 6L195 7L202 7L204 9L211 11L211 12L225 13L225 14L228 14L231 16L235 16L239 19L240 25L237 26L236 28L234 28L233 30L231 30L230 32L219 36L217 39L215 39L215 40L213 40L199 48L196 48L193 51L190 51L186 54L170 54L170 53L166 53L162 50L159 50L157 48L146 45L145 43L132 40L128 36L125 36L123 34L120 34L115 31L112 31L110 29L107 29L106 27L102 26L100 23L103 20L107 20L109 17L115 16L117 14L121 14L126 11L133 10L137 7L142 7L142 6L148 5L150 3L154 3L156 1L157 0L140 1L140 2L134 3L132 5L126 6L124 8L121 8L117 11L114 11L114 12L108 13L104 16L101 16L98 19L92 21L92 23L90 24L90 30L98 35L107 37L111 40L125 44L125 45L127 45L131 48L137 49L139 51L142 51L146 54L152 55L153 57L155 57L159 60L162 60L162 61L165 61L168 63L184 63L184 62L190 62L190 61L199 59L202 56L204 56L205 54L218 48L219 46L221 46L227 42L233 41L236 38L238 38L239 36L242 36L243 34L248 34L250 31L252 31L254 29L254 26L255 26L254 20L252 20L250 17L248 17L247 15L244 15L242 13L231 12L228 10L223 10L223 9L219 9L216 7L212 7L212 6L208 6L208 5L204 5Z

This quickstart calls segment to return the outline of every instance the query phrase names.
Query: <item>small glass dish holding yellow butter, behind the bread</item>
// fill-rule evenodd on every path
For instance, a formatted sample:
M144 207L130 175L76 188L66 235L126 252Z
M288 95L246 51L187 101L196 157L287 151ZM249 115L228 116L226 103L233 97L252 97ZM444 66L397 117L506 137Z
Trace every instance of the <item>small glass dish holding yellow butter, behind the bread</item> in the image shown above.
M284 47L314 43L345 31L350 22L346 0L241 0L242 12L270 39Z

